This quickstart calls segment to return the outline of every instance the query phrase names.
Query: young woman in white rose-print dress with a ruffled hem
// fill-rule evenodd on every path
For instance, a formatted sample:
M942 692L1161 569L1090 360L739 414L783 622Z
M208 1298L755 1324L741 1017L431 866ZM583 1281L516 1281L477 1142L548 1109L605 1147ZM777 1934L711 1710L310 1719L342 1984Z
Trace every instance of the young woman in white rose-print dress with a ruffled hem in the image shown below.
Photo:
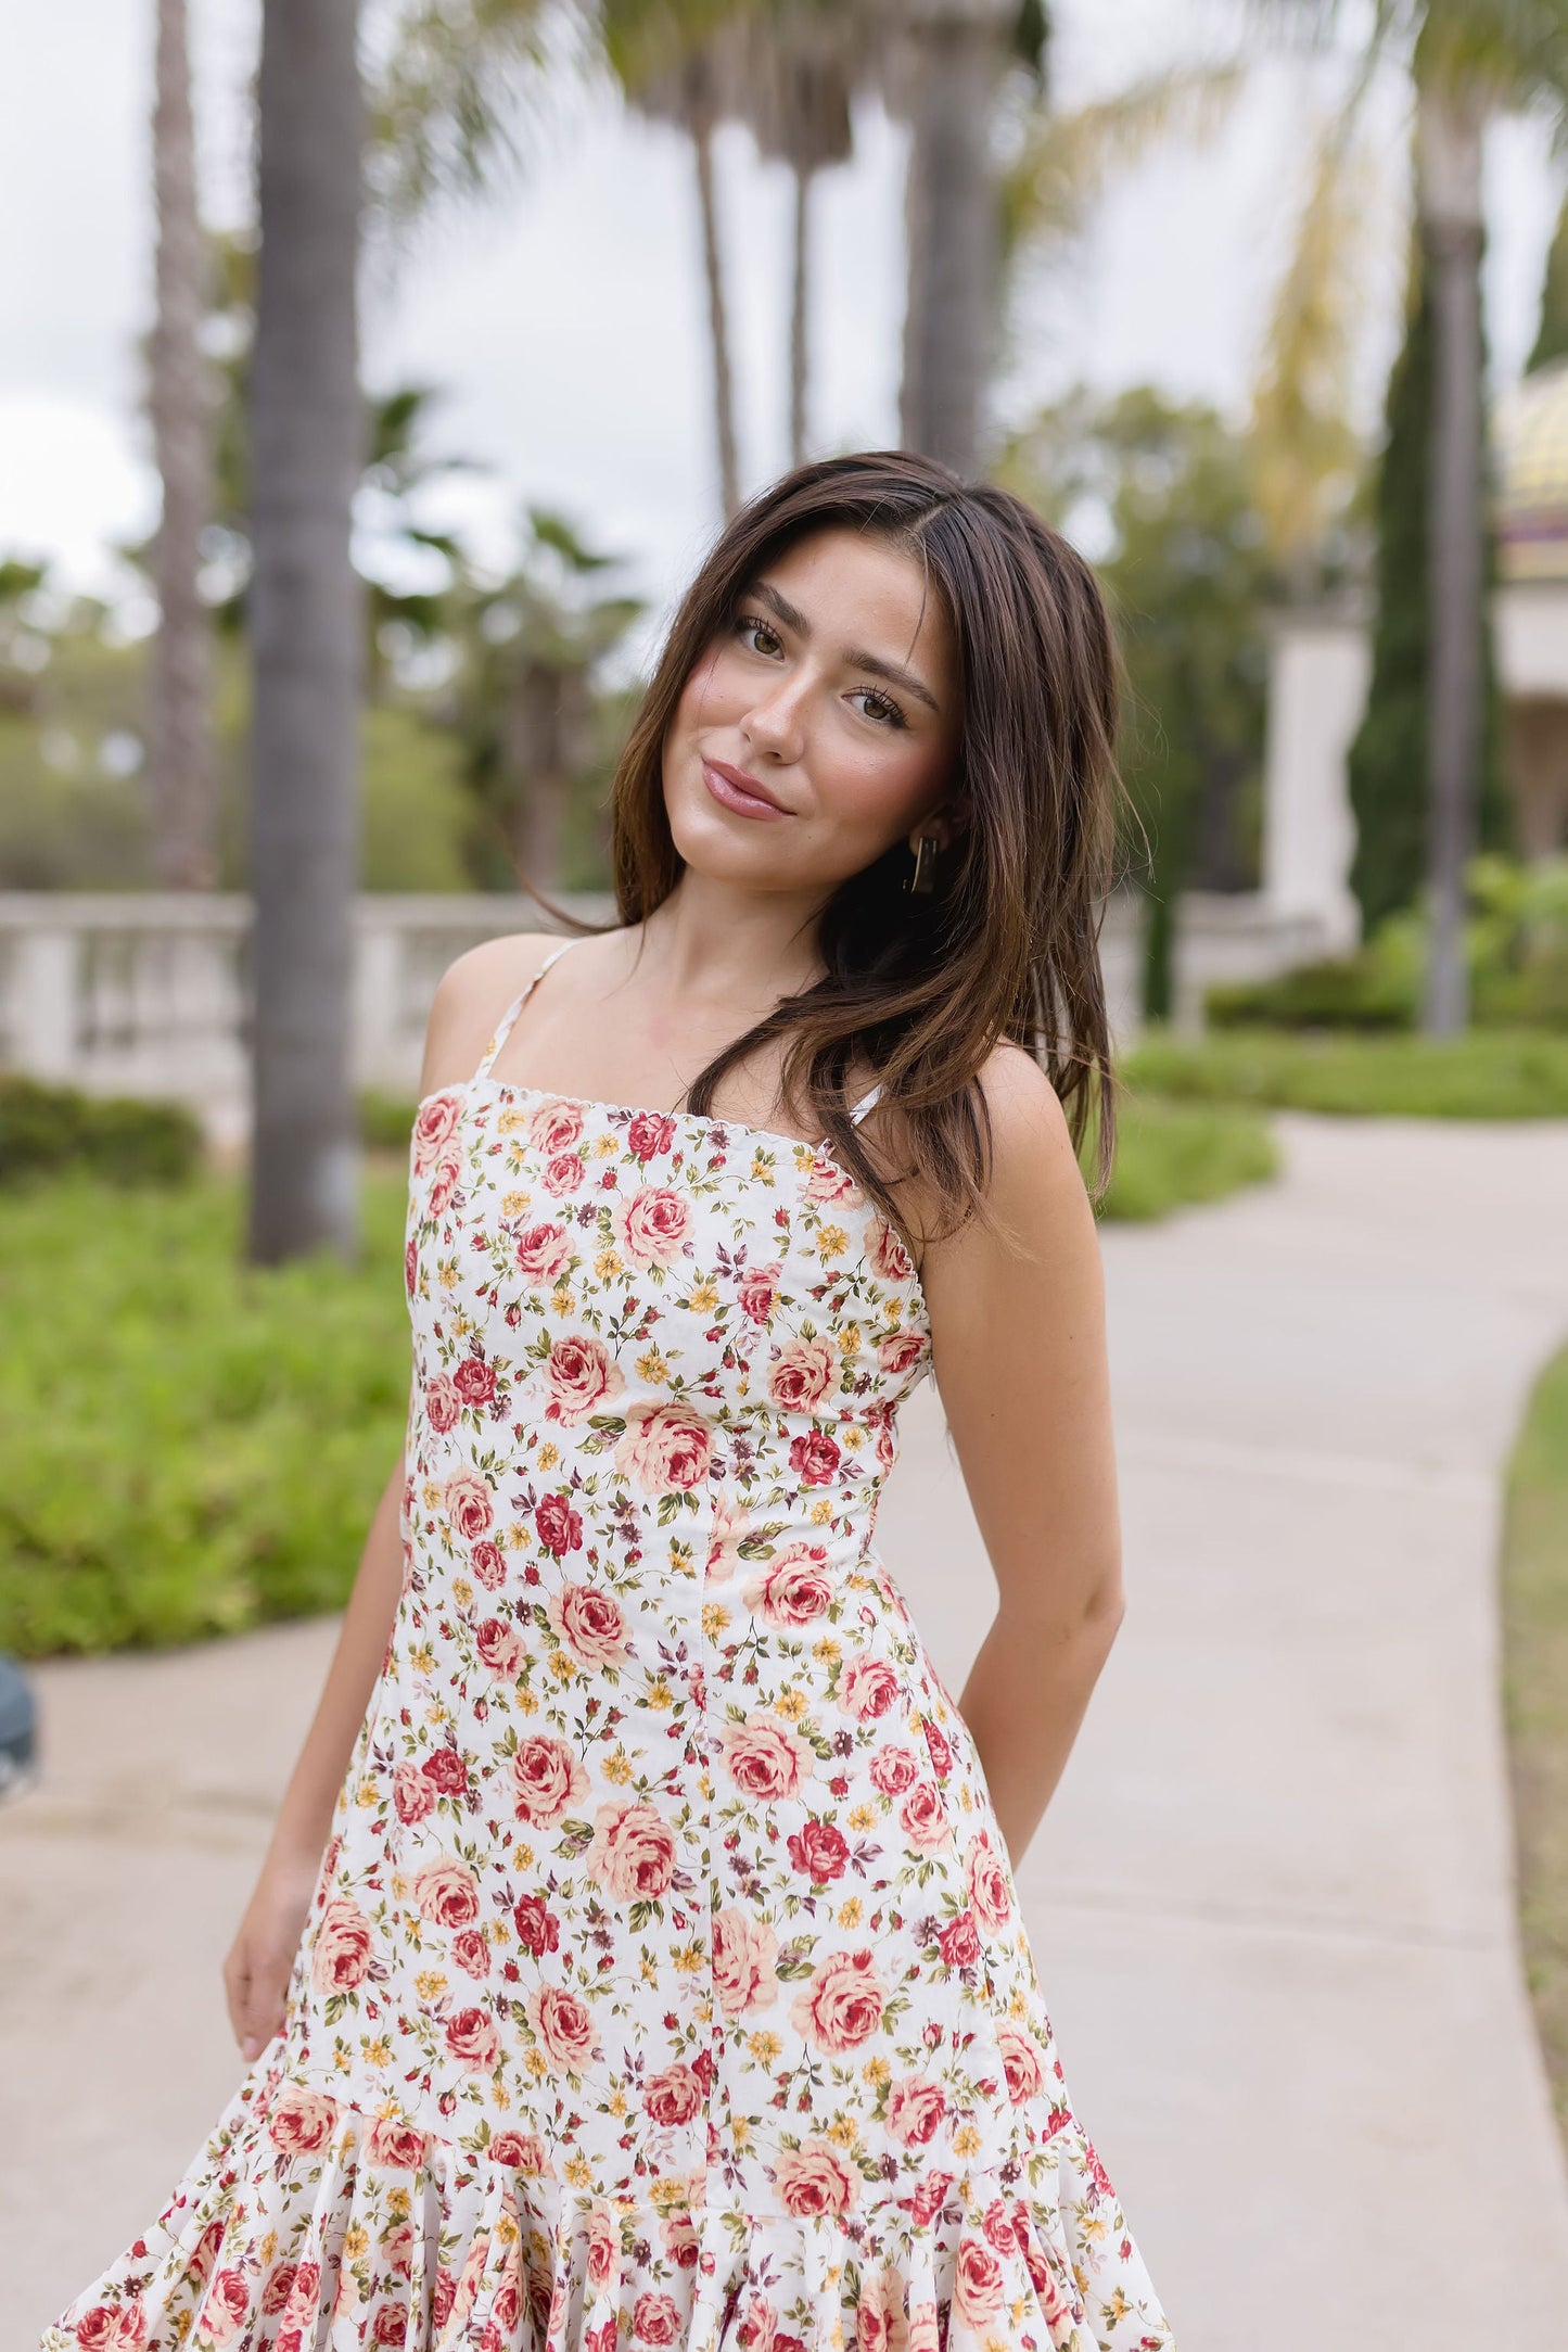
M1013 1884L1121 1618L1112 727L1004 492L851 456L724 532L621 924L440 985L407 1446L228 1957L249 2072L47 2352L1171 2345ZM926 1371L999 1585L959 1705L875 1548Z

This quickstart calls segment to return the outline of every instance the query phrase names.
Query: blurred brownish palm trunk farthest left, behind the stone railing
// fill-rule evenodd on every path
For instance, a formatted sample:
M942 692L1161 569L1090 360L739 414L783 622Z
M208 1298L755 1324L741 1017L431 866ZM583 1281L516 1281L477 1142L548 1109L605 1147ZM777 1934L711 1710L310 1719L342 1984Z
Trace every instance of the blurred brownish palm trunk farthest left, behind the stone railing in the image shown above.
M155 543L158 642L148 748L165 889L216 882L212 802L212 640L197 593L212 496L212 405L202 360L205 249L195 200L186 0L158 0L153 96L158 315L150 343L153 449L162 477Z

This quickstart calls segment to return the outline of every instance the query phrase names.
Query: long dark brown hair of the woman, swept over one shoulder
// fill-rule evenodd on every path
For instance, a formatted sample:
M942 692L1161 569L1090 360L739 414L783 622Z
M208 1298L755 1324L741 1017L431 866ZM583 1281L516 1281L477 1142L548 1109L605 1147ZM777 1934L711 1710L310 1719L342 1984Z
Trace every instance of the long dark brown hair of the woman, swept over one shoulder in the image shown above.
M675 614L616 769L621 922L651 915L682 875L663 748L686 680L757 576L825 529L907 548L943 600L964 694L952 779L961 830L929 894L903 887L905 840L842 882L818 917L825 976L715 1054L686 1105L712 1117L724 1073L783 1040L785 1098L811 1110L835 1157L903 1228L886 1167L849 1120L860 1056L903 1117L943 1230L976 1214L990 1223L992 1131L978 1070L1011 1037L1048 1073L1074 1143L1098 1112L1098 1197L1114 1155L1100 922L1121 793L1119 661L1093 572L1009 492L879 449L799 466L733 517Z

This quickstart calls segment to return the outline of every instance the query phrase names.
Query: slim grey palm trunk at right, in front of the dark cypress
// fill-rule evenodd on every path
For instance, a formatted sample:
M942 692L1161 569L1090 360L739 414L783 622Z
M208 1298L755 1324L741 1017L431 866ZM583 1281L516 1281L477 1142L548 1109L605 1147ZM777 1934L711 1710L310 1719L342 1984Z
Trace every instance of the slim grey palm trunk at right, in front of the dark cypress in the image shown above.
M1418 92L1418 205L1432 273L1432 630L1427 680L1429 950L1422 1028L1469 1021L1465 866L1481 783L1481 129L1474 85Z

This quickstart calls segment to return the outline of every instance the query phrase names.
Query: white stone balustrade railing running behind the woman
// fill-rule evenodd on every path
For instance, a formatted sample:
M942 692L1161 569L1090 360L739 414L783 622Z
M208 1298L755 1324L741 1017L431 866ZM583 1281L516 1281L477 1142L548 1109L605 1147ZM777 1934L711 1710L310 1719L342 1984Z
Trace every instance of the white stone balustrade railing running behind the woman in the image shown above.
M604 896L562 896L592 922ZM447 964L482 938L550 929L531 898L364 896L355 903L353 1070L411 1096L425 1014ZM1112 901L1105 981L1119 1035L1135 1028L1138 906ZM186 1101L214 1134L247 1117L249 898L230 894L0 894L0 1068ZM1190 894L1178 948L1178 1018L1192 1025L1218 978L1258 978L1326 953L1319 922L1255 894Z

